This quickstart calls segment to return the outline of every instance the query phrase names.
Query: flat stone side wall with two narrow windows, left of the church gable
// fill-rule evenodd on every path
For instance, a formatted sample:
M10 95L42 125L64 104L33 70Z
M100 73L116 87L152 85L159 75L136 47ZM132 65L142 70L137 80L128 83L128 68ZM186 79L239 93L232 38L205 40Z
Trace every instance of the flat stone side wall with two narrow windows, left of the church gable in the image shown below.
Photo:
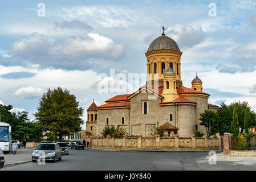
M124 117L124 125L122 125L122 117ZM108 125L107 125L108 118ZM115 126L127 130L128 133L128 123L129 123L129 109L103 109L97 110L97 135L100 135L105 126Z

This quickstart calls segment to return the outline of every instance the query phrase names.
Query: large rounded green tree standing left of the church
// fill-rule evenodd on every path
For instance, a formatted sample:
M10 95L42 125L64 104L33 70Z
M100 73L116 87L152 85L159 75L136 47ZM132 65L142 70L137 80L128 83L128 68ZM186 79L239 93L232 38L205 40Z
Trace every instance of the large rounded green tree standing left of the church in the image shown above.
M82 129L83 109L67 89L48 89L40 98L37 109L34 116L38 121L38 128L44 132L50 131L55 141L57 136L61 139L64 135Z

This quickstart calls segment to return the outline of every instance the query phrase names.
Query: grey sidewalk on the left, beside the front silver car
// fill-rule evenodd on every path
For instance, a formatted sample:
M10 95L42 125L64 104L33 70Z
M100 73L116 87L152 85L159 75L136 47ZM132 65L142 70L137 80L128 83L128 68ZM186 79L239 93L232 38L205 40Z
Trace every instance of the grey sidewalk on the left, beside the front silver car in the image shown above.
M32 152L34 151L34 148L35 147L27 147L27 148L21 147L17 149L17 152L15 155L13 155L11 152L9 154L5 154L4 167L31 162L32 161L31 155L32 155Z

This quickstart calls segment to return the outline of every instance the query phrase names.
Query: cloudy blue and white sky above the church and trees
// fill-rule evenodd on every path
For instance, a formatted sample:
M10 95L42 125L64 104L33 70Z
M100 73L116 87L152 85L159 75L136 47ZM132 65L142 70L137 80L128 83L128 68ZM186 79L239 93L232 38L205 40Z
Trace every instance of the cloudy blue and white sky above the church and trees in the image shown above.
M247 101L256 111L256 1L235 0L1 0L0 104L33 120L42 94L60 86L76 96L86 121L93 99L102 105L137 89L100 93L99 85L129 87L118 73L147 73L145 52L162 26L182 51L184 86L197 72L210 104Z

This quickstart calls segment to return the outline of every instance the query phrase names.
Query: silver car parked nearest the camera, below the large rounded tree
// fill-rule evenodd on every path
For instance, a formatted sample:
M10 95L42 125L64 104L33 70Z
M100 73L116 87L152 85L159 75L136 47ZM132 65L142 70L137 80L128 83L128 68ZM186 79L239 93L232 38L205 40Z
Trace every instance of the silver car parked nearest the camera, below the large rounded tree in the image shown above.
M36 162L40 156L44 155L45 160L56 162L62 160L62 148L58 143L41 143L32 154L32 162Z

